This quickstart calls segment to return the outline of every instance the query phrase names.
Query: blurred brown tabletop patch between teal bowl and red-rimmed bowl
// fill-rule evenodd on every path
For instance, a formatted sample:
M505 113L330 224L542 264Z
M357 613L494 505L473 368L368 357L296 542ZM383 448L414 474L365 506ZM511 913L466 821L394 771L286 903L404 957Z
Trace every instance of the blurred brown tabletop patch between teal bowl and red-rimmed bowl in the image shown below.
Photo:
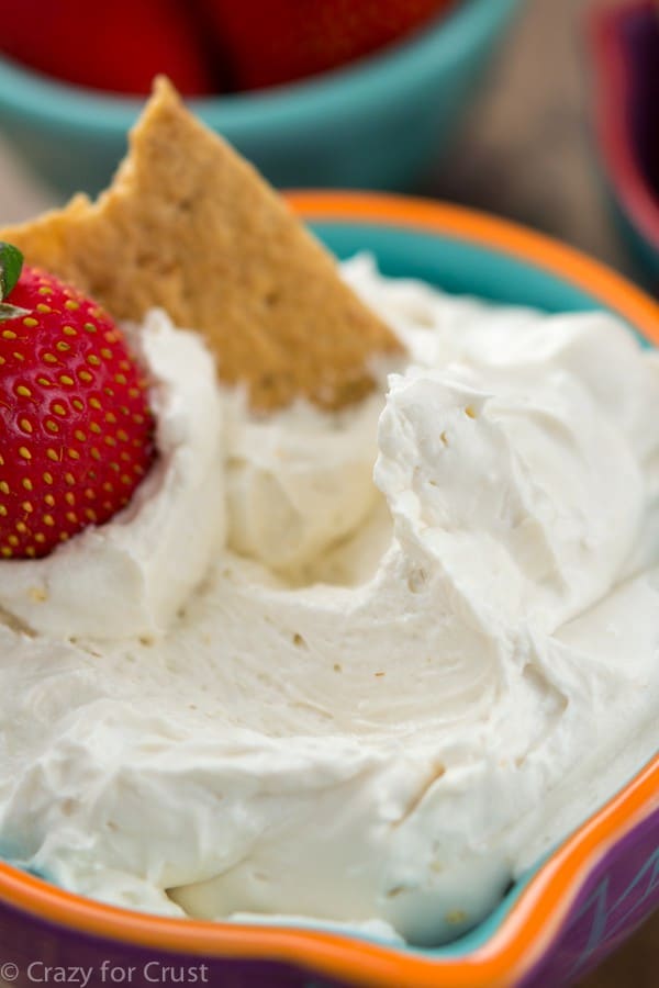
M593 18L622 5L527 0L428 191L543 229L634 274L595 145L590 44Z

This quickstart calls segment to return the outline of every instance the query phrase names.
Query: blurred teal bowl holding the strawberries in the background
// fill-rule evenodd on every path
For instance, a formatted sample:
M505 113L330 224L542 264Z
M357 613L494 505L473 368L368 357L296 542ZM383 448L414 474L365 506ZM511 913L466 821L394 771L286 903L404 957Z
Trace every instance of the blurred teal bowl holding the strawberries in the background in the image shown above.
M456 0L409 40L260 93L190 100L276 186L405 188L448 147L520 0ZM144 100L0 58L0 130L63 195L105 188Z

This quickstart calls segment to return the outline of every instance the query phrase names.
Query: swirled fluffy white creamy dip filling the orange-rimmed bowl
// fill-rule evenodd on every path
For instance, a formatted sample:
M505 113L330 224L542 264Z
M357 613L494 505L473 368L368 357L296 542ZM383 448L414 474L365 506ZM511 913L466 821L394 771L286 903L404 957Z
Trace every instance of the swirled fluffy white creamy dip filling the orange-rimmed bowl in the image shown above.
M338 415L255 419L138 330L158 465L0 562L0 849L120 906L438 943L657 748L659 362L602 313L344 273L411 357Z

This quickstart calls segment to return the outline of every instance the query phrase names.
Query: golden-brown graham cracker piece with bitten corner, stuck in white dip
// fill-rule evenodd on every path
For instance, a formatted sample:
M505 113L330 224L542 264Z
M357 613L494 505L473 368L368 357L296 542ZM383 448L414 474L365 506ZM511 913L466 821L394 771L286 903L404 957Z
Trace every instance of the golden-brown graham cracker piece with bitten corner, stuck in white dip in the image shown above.
M340 280L287 203L159 78L96 202L0 232L37 265L138 321L163 306L200 330L256 409L303 396L339 408L371 388L369 358L400 344Z

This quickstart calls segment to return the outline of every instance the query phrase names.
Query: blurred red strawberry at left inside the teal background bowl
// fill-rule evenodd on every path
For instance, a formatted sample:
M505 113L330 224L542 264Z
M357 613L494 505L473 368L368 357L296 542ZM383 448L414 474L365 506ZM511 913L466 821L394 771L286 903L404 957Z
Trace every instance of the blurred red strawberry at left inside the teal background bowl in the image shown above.
M0 0L0 49L78 86L147 93L164 72L185 96L212 92L201 32L178 0Z

